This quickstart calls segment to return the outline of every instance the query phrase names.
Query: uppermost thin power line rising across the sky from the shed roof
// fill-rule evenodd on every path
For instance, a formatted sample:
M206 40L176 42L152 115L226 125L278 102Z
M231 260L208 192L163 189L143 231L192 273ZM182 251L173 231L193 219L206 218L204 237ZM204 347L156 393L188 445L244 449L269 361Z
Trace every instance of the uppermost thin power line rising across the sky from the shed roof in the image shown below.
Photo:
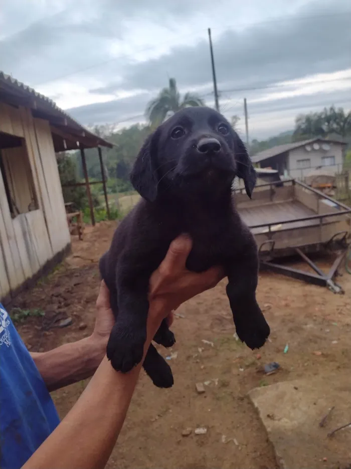
M302 16L302 17L293 17L293 16L290 17L289 15L287 15L287 16L282 16L282 17L279 17L279 18L271 18L271 19L267 19L267 20L262 20L262 21L257 21L257 22L254 22L254 23L250 23L250 24L247 25L247 27L250 28L250 27L261 25L261 24L274 23L274 22L278 22L278 21L281 22L283 19L289 19L289 21L301 21L301 20L317 19L317 18L323 18L323 17L347 16L347 15L351 15L351 10L350 11L345 11L345 12L342 12L342 13L341 12L340 13L327 13L327 14L320 14L320 15L314 14L314 15ZM240 23L235 24L235 25L228 24L228 25L222 26L222 28L230 28L230 27L233 27L233 26L238 27L238 26L240 26ZM213 28L213 29L216 29L216 28ZM201 30L193 31L192 33L183 35L183 37L195 36L200 31L203 31L203 30L201 29ZM173 43L173 40L162 41L163 45L167 45L167 44L171 44L171 43ZM136 53L140 53L140 52L147 52L147 51L152 51L154 49L155 49L155 46L148 46L148 47L144 47L144 48L135 49L134 53L136 54ZM96 62L92 65L88 65L86 67L76 69L72 72L57 76L57 77L52 78L50 80L42 81L41 83L37 83L37 84L33 85L33 87L38 87L38 86L42 86L42 85L47 84L47 83L52 83L53 81L57 81L57 80L60 80L62 78L67 78L67 77L75 75L77 73L80 73L80 72L83 72L83 71L86 71L86 70L90 70L92 68L95 68L95 67L98 67L98 66L101 66L101 65L105 65L107 63L117 61L121 58L130 57L130 55L131 54L124 53L124 54L119 55L118 57L113 57L113 58L110 58L110 59L107 59L107 60L103 60L101 62Z

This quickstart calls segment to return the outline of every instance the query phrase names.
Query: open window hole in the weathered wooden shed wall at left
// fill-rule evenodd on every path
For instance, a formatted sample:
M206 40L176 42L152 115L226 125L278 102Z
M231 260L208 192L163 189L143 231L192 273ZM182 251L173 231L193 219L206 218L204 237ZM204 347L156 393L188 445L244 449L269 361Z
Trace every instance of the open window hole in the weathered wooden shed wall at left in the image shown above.
M23 138L0 132L0 171L12 218L37 210L38 199Z

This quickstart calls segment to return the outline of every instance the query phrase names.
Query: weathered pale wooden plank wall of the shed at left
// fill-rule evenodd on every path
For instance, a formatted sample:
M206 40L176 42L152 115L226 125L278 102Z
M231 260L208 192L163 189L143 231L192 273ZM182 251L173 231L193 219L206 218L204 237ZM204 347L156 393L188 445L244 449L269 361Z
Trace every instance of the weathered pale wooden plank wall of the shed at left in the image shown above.
M0 103L0 131L25 139L24 147L3 150L7 170L24 164L19 174L33 175L36 210L11 216L3 177L0 173L0 300L18 290L50 259L70 243L59 172L47 121L34 119L27 108ZM23 163L23 155L27 157ZM27 167L25 166L27 164ZM17 168L18 169L18 168ZM22 177L21 176L21 177ZM26 204L31 188L24 183L17 199ZM18 191L19 186L12 187ZM21 187L20 187L21 190ZM21 207L24 211L24 207Z

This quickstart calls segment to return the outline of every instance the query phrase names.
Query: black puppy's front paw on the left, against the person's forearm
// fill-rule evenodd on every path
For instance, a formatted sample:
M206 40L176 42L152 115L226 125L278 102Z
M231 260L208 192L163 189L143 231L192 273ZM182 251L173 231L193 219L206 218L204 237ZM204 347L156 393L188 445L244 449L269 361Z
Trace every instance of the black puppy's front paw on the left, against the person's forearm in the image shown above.
M127 373L140 363L144 353L146 331L128 331L116 323L107 343L107 358L116 371Z

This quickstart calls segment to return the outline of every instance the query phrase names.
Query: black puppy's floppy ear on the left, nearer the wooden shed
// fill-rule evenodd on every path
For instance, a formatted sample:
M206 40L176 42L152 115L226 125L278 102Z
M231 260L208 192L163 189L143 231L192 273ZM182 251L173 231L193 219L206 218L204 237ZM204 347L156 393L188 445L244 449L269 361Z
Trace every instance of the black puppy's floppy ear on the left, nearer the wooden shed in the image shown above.
M157 141L158 129L146 138L130 173L132 186L148 202L157 197Z

